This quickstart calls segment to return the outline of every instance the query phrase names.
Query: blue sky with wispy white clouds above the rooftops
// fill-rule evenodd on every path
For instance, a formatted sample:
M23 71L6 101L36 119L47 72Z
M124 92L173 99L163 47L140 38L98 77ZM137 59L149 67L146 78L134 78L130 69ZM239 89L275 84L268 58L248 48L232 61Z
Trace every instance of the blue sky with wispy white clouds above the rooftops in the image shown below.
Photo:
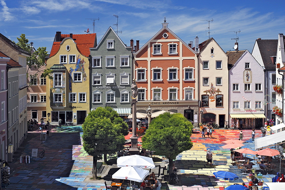
M140 40L142 47L161 28L164 16L172 30L184 42L199 42L213 37L224 51L233 50L239 31L239 49L250 52L257 38L277 39L285 32L284 1L134 1L134 0L0 0L0 33L17 42L17 37L26 34L34 47L47 47L50 51L56 31L62 34L93 33L95 21L97 42L109 26L117 22L125 44L130 39ZM207 34L207 35L206 35Z

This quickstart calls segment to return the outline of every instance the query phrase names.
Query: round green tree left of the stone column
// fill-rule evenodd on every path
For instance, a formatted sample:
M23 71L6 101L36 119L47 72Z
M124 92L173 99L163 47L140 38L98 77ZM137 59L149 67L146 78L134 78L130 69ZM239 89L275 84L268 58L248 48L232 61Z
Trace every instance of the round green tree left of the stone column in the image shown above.
M99 107L90 111L82 128L83 148L93 156L92 177L97 179L97 160L102 159L102 154L114 154L123 149L127 123L112 108Z

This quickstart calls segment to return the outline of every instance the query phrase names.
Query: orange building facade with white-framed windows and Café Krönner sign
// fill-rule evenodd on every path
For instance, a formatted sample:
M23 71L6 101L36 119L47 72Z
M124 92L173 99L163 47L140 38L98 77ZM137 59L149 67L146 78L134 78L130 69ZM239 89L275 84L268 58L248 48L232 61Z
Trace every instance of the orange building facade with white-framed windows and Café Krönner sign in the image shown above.
M166 21L134 53L133 77L138 82L137 110L182 113L198 125L198 59L195 51L176 36ZM139 50L138 50L139 49Z

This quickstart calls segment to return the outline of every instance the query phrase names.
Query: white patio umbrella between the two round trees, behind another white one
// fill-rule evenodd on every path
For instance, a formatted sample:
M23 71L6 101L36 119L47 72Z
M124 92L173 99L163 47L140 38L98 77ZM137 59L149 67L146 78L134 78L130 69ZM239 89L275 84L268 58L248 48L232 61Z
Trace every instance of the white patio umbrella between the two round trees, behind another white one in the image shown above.
M139 155L121 156L117 158L117 166L118 168L125 166L134 166L145 169L155 168L152 158Z

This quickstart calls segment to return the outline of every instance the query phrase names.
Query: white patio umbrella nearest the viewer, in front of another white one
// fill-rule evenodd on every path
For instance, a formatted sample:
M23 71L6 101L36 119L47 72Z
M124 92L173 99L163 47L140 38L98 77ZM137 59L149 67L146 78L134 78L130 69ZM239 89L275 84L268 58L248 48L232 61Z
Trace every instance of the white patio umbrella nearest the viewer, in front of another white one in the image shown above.
M128 179L131 181L143 182L144 178L149 174L148 170L133 166L125 166L120 168L112 175L113 179Z

